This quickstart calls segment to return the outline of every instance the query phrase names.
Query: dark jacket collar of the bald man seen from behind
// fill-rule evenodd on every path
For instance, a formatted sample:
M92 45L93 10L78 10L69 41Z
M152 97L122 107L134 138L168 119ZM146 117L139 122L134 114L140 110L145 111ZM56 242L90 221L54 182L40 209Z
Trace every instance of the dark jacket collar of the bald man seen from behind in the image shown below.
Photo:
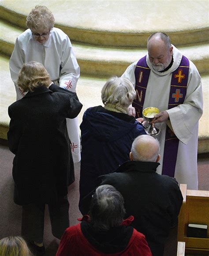
M123 173L129 171L139 171L142 173L155 173L157 166L160 163L156 162L140 162L140 161L127 161L124 162L118 169L116 169L116 173Z

